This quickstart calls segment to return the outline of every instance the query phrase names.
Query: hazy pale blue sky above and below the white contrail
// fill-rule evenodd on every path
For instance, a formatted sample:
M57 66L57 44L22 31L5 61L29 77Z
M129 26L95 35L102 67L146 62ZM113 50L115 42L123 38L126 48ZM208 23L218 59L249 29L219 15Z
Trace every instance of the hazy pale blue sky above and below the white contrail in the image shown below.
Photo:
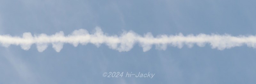
M179 33L256 34L255 0L0 0L0 35L64 35L96 27L109 36L132 31L143 36ZM56 52L32 44L0 47L1 84L254 84L255 49L242 45L224 50L140 44L127 51L65 43ZM155 73L153 78L103 77L104 72ZM126 75L126 74L124 74Z

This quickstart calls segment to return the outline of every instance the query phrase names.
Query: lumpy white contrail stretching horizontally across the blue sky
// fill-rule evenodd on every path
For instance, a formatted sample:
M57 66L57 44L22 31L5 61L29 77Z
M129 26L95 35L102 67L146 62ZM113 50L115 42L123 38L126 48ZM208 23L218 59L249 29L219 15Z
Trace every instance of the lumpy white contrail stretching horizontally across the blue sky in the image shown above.
M162 34L154 37L151 33L141 36L132 31L123 32L120 36L109 36L104 34L100 27L96 27L96 32L93 34L89 34L85 29L79 29L66 36L62 31L53 35L39 34L34 36L27 32L23 33L22 37L0 35L1 46L20 45L23 50L29 50L32 44L36 44L37 50L43 52L48 47L48 44L52 44L52 48L60 52L64 43L73 44L75 47L78 46L79 43L82 45L92 43L97 47L99 47L100 44L106 44L110 49L118 50L119 52L131 50L136 43L143 48L144 52L150 50L152 45L156 45L156 49L165 50L168 45L178 48L187 45L191 48L194 44L204 47L207 43L212 46L212 49L217 48L223 50L242 45L256 48L256 36L231 36L229 34L190 34L184 36L180 33L177 35Z

